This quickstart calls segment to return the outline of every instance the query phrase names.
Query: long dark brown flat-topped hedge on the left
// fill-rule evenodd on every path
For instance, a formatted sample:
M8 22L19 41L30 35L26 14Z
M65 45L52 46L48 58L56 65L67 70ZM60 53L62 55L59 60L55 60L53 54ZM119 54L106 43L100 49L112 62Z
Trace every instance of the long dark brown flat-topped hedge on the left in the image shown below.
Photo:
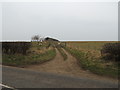
M31 42L2 42L2 52L6 54L26 54Z

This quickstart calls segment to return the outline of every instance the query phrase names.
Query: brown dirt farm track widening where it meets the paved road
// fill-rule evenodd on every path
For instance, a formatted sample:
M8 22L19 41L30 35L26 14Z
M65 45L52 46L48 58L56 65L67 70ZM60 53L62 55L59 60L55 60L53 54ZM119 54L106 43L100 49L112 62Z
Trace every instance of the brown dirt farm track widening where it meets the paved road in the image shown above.
M25 69L75 77L92 78L101 81L118 81L117 79L99 76L89 71L83 70L80 68L80 66L77 64L77 60L71 54L69 54L66 50L64 50L64 52L67 54L67 60L63 60L60 52L56 49L56 57L53 60L38 65L30 65Z

